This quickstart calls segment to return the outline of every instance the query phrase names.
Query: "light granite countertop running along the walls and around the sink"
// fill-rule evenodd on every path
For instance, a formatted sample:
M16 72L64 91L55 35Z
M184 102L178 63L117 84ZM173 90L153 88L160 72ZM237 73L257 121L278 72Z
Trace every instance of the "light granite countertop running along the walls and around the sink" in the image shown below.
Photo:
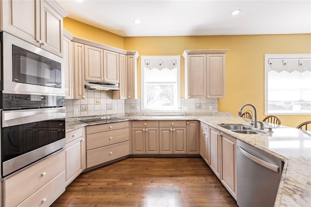
M276 196L275 207L311 206L310 131L265 123L264 127L272 127L273 133L267 133L267 129L265 129L260 130L266 132L265 134L239 134L227 130L219 126L219 124L249 125L250 121L241 117L228 116L228 114L221 113L212 116L126 116L123 118L124 120L122 121L198 120L205 122L209 126L240 139L285 163ZM70 118L66 121L66 132L95 124L99 123L87 124L79 121L79 119Z

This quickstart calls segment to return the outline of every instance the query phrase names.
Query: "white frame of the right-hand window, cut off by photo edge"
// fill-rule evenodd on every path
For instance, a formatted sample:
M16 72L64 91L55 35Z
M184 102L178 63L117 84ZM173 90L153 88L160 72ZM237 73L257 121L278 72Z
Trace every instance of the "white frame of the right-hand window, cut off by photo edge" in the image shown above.
M268 72L270 59L310 58L311 54L265 54L264 55L264 115L310 115L310 113L269 113L268 112Z

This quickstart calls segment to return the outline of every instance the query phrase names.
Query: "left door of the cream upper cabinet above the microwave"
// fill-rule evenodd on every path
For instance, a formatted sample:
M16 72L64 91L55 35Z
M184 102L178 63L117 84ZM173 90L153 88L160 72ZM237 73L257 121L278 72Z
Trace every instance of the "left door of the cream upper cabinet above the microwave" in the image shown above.
M2 0L2 29L40 46L40 2L38 0ZM27 11L27 12L25 12Z

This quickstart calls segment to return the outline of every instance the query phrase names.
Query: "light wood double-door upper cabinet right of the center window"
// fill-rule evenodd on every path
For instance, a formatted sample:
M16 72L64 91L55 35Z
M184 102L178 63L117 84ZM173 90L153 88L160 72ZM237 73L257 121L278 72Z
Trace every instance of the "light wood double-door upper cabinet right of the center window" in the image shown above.
M225 53L185 51L185 98L225 98Z

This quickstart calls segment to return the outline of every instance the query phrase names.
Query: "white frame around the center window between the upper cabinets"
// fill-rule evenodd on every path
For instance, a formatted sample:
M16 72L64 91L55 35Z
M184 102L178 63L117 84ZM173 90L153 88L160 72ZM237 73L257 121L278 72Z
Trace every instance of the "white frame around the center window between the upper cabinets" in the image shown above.
M146 56L142 55L140 56L140 79L141 79L141 90L140 90L140 110L161 110L161 111L169 111L169 110L180 110L180 55L152 55L152 56ZM165 107L158 107L158 108L150 108L146 107L145 101L145 72L144 72L144 63L145 60L176 60L176 68L177 68L177 108L172 106L165 106ZM158 83L167 83L167 82L158 82Z

